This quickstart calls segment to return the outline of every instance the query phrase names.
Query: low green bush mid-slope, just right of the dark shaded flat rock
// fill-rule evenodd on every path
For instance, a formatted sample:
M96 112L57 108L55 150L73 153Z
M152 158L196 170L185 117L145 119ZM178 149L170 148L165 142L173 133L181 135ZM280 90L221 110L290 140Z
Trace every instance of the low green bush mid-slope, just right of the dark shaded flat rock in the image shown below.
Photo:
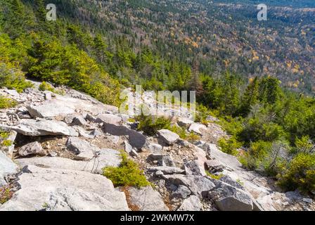
M139 121L138 130L148 136L155 135L160 129L171 129L171 120L167 117L141 115L136 120Z

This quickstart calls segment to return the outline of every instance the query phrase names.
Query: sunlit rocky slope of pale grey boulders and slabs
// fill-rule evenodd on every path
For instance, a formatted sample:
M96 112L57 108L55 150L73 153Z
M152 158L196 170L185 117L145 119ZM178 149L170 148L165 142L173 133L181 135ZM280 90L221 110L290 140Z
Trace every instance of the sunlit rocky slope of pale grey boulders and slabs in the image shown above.
M0 210L315 210L307 196L281 193L221 152L216 143L226 134L215 122L173 118L200 136L196 143L169 130L145 136L116 107L63 89L63 96L0 90L19 103L0 112L0 127L14 141L0 150L0 186L12 195ZM101 175L120 165L122 149L152 187L115 188ZM212 179L206 170L223 176Z

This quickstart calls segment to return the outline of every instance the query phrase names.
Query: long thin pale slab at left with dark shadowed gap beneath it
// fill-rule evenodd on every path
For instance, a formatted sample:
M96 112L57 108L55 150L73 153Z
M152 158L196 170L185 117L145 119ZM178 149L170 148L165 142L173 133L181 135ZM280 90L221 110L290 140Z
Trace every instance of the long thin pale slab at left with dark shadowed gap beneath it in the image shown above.
M25 136L48 136L65 135L78 136L79 134L72 127L68 127L64 122L52 120L20 120L20 124L9 127Z

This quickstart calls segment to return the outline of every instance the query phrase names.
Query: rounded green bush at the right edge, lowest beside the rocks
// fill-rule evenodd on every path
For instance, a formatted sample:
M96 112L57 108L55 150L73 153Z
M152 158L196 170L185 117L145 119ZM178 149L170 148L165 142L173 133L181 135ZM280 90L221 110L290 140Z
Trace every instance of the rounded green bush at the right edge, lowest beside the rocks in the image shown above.
M278 185L285 191L299 189L303 193L315 191L315 155L299 153L288 168L278 175Z

